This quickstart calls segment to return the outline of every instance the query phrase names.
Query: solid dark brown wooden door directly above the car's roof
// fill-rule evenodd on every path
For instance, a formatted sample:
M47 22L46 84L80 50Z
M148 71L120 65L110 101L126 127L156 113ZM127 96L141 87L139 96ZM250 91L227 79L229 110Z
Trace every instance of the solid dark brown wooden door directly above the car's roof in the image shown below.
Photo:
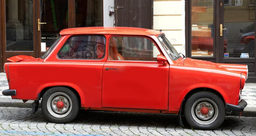
M153 29L153 0L115 0L115 26Z

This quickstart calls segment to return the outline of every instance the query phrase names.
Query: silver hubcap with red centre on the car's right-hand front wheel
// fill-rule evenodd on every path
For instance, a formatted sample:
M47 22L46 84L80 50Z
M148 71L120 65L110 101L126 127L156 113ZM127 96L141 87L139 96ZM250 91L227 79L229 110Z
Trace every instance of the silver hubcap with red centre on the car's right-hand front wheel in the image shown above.
M218 117L217 104L208 99L202 98L192 105L191 113L193 119L201 125L209 125Z

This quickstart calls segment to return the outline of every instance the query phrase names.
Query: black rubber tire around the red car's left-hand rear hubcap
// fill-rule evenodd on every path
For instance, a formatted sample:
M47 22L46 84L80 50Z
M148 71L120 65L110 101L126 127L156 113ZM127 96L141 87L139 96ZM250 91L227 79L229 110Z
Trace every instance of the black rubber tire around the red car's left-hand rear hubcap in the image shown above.
M72 102L72 108L70 108L70 106L68 106L69 107L69 110L68 110L69 113L66 112L66 114L67 113L68 114L65 117L54 117L49 112L50 110L52 110L51 112L54 112L54 110L52 108L50 110L48 110L48 108L47 108L48 99L51 97L52 94L54 95L55 93L64 93L64 94L66 94ZM68 123L68 122L71 122L79 114L80 106L81 106L81 103L79 101L79 96L76 95L73 91L71 91L70 89L68 89L66 87L50 88L49 90L47 90L47 92L45 92L45 94L43 95L42 100L41 100L41 109L42 109L42 112L43 112L44 116L50 122L53 122L53 123ZM54 114L57 114L57 113L54 113Z

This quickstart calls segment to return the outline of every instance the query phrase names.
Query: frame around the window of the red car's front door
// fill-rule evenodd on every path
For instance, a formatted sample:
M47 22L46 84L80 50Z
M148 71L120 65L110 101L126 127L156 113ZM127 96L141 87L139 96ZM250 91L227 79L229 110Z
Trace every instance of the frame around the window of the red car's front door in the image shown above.
M160 48L158 47L159 45L154 41L154 39L151 39L151 37L149 37L149 36L141 36L141 35L112 35L112 36L110 36L109 39L108 39L108 53L107 53L108 56L109 56L109 42L110 42L110 39L113 38L113 37L142 37L142 38L146 38L146 39L150 40L153 44L155 44L155 46L157 47L157 50L159 51L159 53L161 55L165 56L163 51L160 50ZM154 62L154 63L158 63L157 61L109 60L108 56L107 56L107 61L115 61L115 62L144 62L144 63L145 62Z

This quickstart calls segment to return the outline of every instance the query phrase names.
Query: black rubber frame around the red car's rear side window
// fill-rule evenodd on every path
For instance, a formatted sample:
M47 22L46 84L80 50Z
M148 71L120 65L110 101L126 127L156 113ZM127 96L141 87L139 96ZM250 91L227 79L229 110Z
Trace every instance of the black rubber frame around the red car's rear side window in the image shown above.
M101 58L101 59L87 59L87 58L83 58L83 59L79 59L79 58L59 58L58 54L61 52L62 48L67 44L67 42L72 38L72 37L76 37L76 36L103 36L106 40L105 42L105 53L104 53L104 56ZM56 57L57 59L59 60L90 60L90 61L101 61L105 58L106 56L106 50L107 50L107 38L104 34L79 34L79 35L72 35L72 36L69 36L68 39L65 41L64 44L61 45L61 48L58 50L58 52L56 53Z

